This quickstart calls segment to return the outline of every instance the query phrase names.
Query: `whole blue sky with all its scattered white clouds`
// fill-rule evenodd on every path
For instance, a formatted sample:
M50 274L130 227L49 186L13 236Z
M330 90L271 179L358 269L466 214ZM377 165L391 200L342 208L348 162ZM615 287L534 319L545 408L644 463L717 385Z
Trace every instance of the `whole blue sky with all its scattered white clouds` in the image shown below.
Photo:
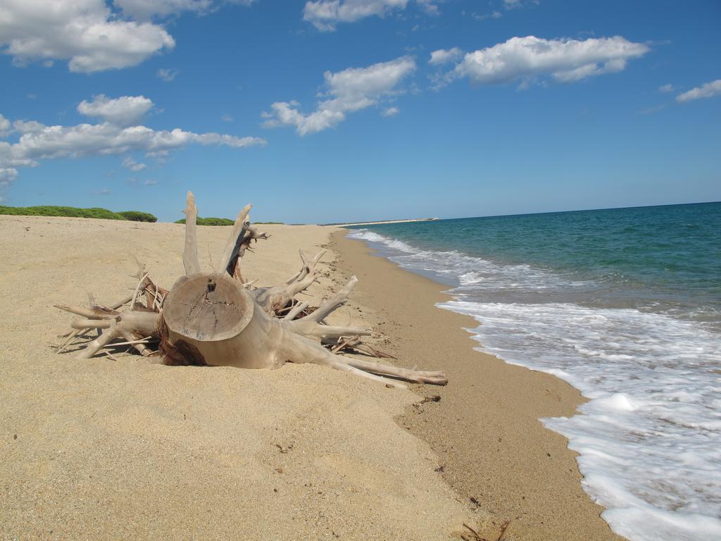
M6 0L3 204L329 222L721 200L721 4Z

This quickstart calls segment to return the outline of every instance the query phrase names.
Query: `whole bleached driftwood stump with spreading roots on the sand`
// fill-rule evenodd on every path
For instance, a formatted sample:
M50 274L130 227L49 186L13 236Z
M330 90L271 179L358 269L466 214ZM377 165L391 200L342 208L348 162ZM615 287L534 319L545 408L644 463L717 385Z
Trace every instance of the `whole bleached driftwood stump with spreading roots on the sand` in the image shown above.
M403 387L399 379L447 383L441 371L408 370L337 354L351 350L392 358L361 342L361 336L372 334L371 329L325 324L325 318L348 300L358 282L355 276L316 309L294 298L317 281L325 250L312 258L301 251L301 269L286 283L254 288L245 282L240 268L245 252L253 241L268 238L250 224L250 208L238 214L218 266L221 273L205 273L198 258L198 211L189 192L182 258L185 276L167 291L156 286L141 266L131 299L112 307L98 306L94 299L89 308L56 305L80 316L71 323L74 331L61 349L77 335L97 329L99 336L80 351L80 359L89 359L120 340L115 346L132 346L143 356L159 355L164 364L259 369L278 368L286 362L315 363L395 387ZM129 309L121 311L128 303ZM156 350L150 347L153 344Z

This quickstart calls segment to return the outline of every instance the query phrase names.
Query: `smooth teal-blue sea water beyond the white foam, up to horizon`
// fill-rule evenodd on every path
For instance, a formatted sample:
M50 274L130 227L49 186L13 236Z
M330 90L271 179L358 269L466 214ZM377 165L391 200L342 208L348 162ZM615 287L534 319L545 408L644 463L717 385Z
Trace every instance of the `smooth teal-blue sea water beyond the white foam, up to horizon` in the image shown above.
M423 250L527 264L575 299L721 323L721 203L366 226ZM548 291L547 299L569 291ZM718 328L718 327L717 327Z

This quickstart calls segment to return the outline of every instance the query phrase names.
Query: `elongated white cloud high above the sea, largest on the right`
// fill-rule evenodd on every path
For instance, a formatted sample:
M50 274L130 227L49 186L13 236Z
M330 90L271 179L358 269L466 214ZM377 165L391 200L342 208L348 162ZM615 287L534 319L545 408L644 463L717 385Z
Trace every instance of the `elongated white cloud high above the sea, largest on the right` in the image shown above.
M535 36L510 38L504 43L466 53L440 82L468 77L476 84L528 84L536 78L552 76L558 82L574 82L589 76L622 71L627 61L645 55L650 49L621 36L613 38L568 38L544 40Z

